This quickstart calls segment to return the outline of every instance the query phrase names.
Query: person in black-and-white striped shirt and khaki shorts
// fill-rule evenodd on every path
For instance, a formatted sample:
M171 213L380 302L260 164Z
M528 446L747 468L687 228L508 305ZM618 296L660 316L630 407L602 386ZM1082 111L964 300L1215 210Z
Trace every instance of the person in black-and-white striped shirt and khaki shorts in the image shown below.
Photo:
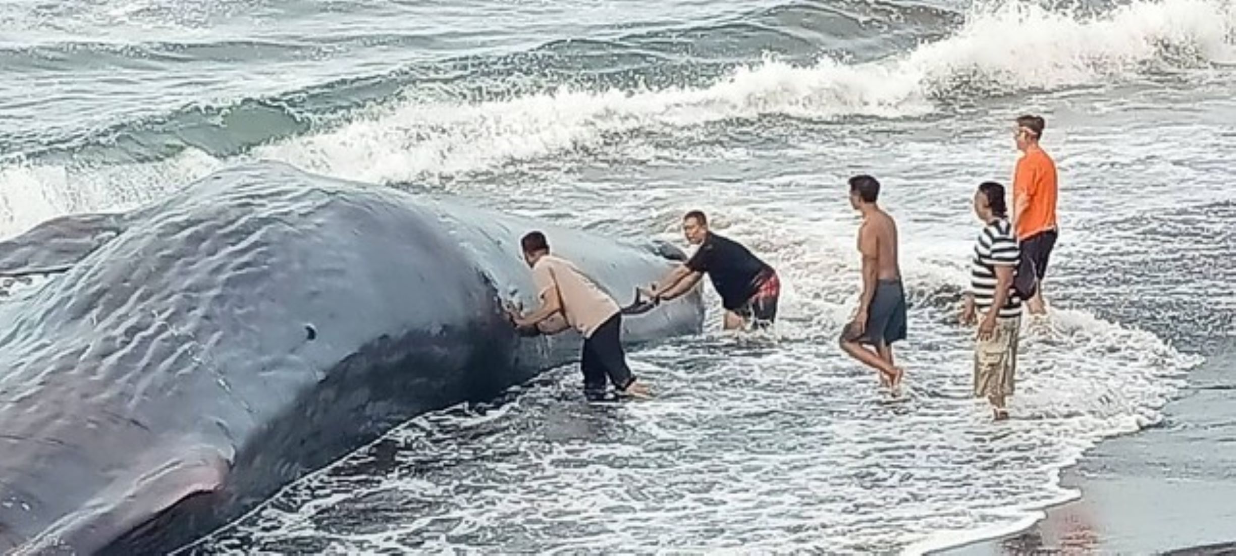
M1004 185L985 182L974 194L974 213L985 226L974 243L970 292L962 321L979 321L974 346L974 395L991 403L996 420L1009 419L1005 397L1012 395L1017 369L1021 299L1012 287L1020 261L1017 238L1009 224Z

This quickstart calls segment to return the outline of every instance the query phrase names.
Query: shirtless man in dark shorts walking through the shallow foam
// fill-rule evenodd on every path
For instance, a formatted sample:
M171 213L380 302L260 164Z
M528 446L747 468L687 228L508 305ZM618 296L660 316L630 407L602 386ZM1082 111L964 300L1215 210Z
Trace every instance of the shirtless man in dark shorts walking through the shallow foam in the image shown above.
M880 182L870 175L849 179L850 205L863 215L858 251L863 255L863 295L858 314L842 331L850 357L880 372L880 383L896 392L905 372L892 361L892 342L906 339L906 295L897 266L897 224L880 209ZM868 350L871 346L875 351Z

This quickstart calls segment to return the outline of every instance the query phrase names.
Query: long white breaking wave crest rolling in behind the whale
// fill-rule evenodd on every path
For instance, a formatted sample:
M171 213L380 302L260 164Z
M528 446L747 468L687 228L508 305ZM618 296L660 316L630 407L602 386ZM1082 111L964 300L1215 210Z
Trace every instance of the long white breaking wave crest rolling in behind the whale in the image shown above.
M901 117L949 95L1103 85L1148 69L1236 61L1236 9L1220 0L1136 1L1093 17L1009 2L953 36L889 59L797 67L765 59L701 88L561 89L483 103L404 99L339 128L257 148L349 179L414 182L623 143L632 133L789 115ZM99 210L162 192L230 161L189 151L122 167L0 168L0 235L44 215ZM206 157L209 158L209 157ZM87 193L82 193L87 192ZM74 199L66 199L72 196Z

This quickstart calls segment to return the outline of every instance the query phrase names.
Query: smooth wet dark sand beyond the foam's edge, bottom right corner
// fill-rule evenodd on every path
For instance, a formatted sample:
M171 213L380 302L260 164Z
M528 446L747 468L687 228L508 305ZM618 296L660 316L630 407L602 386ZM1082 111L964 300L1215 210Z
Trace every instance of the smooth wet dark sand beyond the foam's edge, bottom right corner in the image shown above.
M1058 482L1079 495L1043 508L1015 533L975 531L974 540L923 554L1236 554L1232 371L1236 345L1189 373L1159 424L1086 450Z

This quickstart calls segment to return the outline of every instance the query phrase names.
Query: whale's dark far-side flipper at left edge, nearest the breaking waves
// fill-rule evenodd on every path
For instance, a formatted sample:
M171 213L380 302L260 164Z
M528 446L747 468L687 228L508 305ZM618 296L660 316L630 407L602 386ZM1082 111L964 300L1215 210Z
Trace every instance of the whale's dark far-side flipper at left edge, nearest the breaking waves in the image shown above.
M75 214L48 220L0 242L0 278L68 271L122 231L120 214Z

